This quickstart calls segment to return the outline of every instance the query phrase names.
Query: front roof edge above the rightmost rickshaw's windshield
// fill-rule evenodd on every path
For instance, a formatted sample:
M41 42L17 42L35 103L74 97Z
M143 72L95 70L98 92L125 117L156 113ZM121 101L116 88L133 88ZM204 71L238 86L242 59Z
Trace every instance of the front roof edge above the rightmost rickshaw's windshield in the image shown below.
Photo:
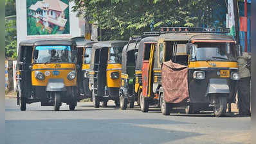
M223 41L235 41L232 36L228 35L218 35L218 34L202 34L202 35L194 35L190 39L194 40L223 40Z

